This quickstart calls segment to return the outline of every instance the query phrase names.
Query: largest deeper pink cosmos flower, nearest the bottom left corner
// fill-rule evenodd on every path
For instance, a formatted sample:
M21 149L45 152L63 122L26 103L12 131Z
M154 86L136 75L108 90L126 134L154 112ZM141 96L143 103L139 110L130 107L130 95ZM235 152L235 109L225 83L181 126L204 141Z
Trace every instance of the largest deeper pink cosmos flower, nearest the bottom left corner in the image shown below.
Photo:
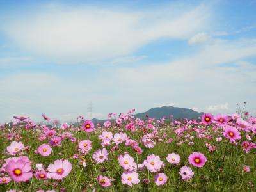
M15 182L24 182L33 176L33 173L30 172L30 162L22 159L9 161L5 170Z

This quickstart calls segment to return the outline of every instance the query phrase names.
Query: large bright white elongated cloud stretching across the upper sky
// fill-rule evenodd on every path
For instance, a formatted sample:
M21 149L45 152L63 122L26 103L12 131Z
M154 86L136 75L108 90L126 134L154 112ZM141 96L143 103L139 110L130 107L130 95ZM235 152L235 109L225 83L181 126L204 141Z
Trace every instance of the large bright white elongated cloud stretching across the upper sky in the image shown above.
M186 40L207 29L211 10L166 6L140 12L104 8L70 8L31 12L6 20L0 28L21 49L73 63L131 54L159 38Z

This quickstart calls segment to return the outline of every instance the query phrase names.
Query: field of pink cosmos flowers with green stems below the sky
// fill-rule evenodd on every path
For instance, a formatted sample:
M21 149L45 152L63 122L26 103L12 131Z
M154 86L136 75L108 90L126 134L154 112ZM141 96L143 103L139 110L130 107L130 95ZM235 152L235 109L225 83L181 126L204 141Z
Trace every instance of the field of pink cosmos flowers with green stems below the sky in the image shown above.
M160 120L110 113L94 125L1 125L0 191L256 191L256 118Z

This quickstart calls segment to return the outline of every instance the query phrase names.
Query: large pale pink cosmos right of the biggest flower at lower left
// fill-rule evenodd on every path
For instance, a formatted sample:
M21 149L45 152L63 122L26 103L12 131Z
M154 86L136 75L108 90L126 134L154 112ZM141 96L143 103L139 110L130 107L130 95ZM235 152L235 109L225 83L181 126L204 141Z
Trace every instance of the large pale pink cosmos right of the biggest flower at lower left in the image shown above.
M48 178L60 180L67 177L67 175L71 172L72 164L67 159L64 161L58 159L54 161L54 164L51 163L47 170Z

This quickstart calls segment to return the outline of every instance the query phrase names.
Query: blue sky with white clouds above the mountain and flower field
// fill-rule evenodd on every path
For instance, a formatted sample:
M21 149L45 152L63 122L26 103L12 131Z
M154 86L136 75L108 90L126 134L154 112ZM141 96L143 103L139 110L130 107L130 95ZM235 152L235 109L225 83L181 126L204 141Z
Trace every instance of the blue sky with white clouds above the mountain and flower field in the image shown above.
M0 122L179 106L256 114L256 1L1 1Z

